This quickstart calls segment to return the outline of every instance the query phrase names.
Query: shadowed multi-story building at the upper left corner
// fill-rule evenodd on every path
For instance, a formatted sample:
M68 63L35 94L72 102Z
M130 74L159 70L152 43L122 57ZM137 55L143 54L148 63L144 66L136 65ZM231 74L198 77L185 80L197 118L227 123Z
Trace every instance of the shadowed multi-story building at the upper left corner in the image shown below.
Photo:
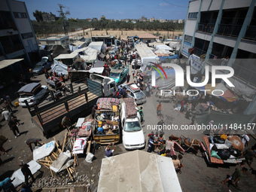
M0 60L24 58L30 64L40 53L25 2L0 0L0 5Z

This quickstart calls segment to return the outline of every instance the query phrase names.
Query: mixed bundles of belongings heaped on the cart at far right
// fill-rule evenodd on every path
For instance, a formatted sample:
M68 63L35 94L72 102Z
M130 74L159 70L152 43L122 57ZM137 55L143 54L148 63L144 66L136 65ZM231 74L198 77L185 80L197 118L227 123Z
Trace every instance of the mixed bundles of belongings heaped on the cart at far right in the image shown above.
M209 136L211 156L220 160L239 158L245 148L239 136Z

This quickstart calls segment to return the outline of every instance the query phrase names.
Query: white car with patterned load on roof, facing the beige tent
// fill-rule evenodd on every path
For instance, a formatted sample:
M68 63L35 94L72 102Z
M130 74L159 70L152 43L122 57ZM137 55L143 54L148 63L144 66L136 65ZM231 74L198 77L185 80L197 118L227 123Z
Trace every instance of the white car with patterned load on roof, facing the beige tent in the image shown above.
M126 150L145 148L141 116L134 99L125 98L121 105L120 118L123 127L123 147Z

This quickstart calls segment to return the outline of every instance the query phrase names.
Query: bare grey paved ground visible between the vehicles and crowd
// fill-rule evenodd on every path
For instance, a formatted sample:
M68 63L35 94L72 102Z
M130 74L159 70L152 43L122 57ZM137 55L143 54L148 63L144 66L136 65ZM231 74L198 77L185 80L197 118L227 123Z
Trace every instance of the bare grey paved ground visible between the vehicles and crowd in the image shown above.
M33 81L41 81L41 84L45 84L44 80L44 75L39 75L37 78L33 79ZM131 81L133 81L133 78L131 78ZM15 98L14 94L12 93L16 92L19 88L19 86L14 86L10 87L8 90L5 90L5 93L8 93L11 95L12 99L14 99L13 103L17 101L17 98ZM0 96L2 96L2 94L4 93L0 93ZM145 138L148 140L148 133L151 133L152 131L148 129L148 125L151 125L152 127L160 120L157 118L156 112L157 98L155 96L147 98L147 102L142 106L145 114L145 126L143 127L143 130L145 132ZM20 119L20 122L23 123L23 125L19 126L20 132L23 134L15 139L6 121L1 122L2 126L0 127L0 134L8 137L8 142L4 144L5 150L8 150L8 155L5 154L1 156L5 163L5 166L0 167L1 180L6 176L11 176L15 170L20 168L18 166L20 160L25 162L32 160L32 153L29 148L27 148L25 143L27 139L41 138L42 142L50 142L53 140L52 138L43 138L41 133L32 123L31 117L26 108L18 107L15 109L14 114L18 119ZM163 103L162 114L164 117L163 120L166 124L173 123L181 126L182 124L190 123L190 120L184 118L184 114L174 111L172 104L170 103ZM195 133L194 131L165 130L164 133L166 138L173 134L174 136L188 136L191 139L199 139L200 141L202 140L203 136L202 133ZM56 133L55 135L56 140L59 141L62 141L63 136L63 131ZM254 145L254 143L255 140L251 138L249 145ZM147 148L144 149L144 151L146 150ZM104 157L104 151L105 146L102 146L99 150L95 151L96 160L93 160L93 163L87 163L84 160L84 156L79 158L80 164L77 168L78 173L87 174L90 179L95 182L94 187L96 186L99 178L101 159ZM127 151L125 151L122 144L117 145L117 151L115 152L116 154L126 152ZM186 152L184 153L183 159L184 168L182 168L182 174L178 174L178 179L183 191L229 191L229 189L231 191L236 191L236 189L232 186L227 187L227 184L221 184L221 181L226 178L226 175L231 175L234 172L234 169L238 166L207 166L206 161L200 152L197 155L193 154L192 152ZM253 167L256 169L256 163L253 163ZM50 171L48 169L41 168L41 171L43 176L50 175ZM152 173L152 175L154 176L154 173ZM240 187L242 187L244 191L254 191L256 187L255 175L252 175L251 171L245 173Z

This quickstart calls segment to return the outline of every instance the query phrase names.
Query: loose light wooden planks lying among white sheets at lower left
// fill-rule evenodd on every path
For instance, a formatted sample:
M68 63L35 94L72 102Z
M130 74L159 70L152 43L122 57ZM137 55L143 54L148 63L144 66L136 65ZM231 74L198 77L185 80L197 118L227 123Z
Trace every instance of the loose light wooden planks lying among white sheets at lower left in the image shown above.
M56 150L53 151L47 157L44 157L44 160L39 160L39 163L41 165L43 165L44 167L46 167L47 169L50 169L50 166L53 163L53 161L56 160L57 157L59 156L59 154L64 151L64 147L63 147L64 145L62 145L62 150L61 150L60 146L59 146L59 143L56 142L56 139L54 137L53 137L53 139L54 139L54 141L56 143ZM76 162L76 160L75 160L75 162ZM66 170L69 173L69 177L72 179L72 181L74 181L74 178L72 177L72 175L75 173L75 168L72 167L72 166L69 166L69 168L67 168ZM54 177L52 169L50 169L50 173L51 173L52 177Z

